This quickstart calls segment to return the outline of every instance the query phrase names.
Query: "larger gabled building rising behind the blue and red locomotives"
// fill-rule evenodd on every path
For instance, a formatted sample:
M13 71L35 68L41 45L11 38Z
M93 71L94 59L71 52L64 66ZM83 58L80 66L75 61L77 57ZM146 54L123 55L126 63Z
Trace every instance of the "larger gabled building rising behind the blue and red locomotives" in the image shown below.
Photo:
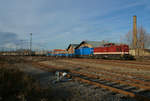
M105 41L82 41L77 47L76 49L82 48L82 47L88 47L88 48L95 48L95 47L101 47L103 46L105 43Z

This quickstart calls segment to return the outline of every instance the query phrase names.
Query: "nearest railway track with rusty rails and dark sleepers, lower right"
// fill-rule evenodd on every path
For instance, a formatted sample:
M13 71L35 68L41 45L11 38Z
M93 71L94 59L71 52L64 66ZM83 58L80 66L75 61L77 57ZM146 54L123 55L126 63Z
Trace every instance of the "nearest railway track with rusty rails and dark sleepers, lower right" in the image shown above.
M74 80L78 80L80 82L88 83L91 85L96 85L100 88L105 88L115 93L123 94L129 97L136 99L137 101L150 101L150 96L147 97L144 94L141 94L141 91L135 87L131 87L128 85L120 85L120 83L114 83L113 81L107 81L100 78L94 78L93 76L84 74L84 73L77 73L71 71L68 74L68 77L72 77ZM142 91L143 92L143 91Z

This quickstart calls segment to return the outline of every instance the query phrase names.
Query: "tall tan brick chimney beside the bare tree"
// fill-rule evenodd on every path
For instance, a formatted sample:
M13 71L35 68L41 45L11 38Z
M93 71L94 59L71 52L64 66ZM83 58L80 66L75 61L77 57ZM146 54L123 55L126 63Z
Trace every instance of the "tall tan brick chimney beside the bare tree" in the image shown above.
M137 18L133 16L133 49L137 49Z

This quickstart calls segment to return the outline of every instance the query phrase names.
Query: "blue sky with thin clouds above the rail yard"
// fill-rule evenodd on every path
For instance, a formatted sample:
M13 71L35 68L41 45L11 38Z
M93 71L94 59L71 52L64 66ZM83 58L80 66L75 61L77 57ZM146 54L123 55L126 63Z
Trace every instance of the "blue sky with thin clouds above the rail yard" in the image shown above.
M120 42L138 26L150 33L150 0L0 0L0 48L64 49L83 40Z

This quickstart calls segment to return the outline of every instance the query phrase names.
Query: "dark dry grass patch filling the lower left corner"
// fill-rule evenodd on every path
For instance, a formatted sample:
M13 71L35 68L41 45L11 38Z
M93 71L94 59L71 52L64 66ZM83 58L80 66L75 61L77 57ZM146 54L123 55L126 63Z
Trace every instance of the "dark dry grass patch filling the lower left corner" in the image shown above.
M15 64L23 62L22 57L0 57L0 101L62 101L54 96L54 89L42 88L31 75L17 69Z

